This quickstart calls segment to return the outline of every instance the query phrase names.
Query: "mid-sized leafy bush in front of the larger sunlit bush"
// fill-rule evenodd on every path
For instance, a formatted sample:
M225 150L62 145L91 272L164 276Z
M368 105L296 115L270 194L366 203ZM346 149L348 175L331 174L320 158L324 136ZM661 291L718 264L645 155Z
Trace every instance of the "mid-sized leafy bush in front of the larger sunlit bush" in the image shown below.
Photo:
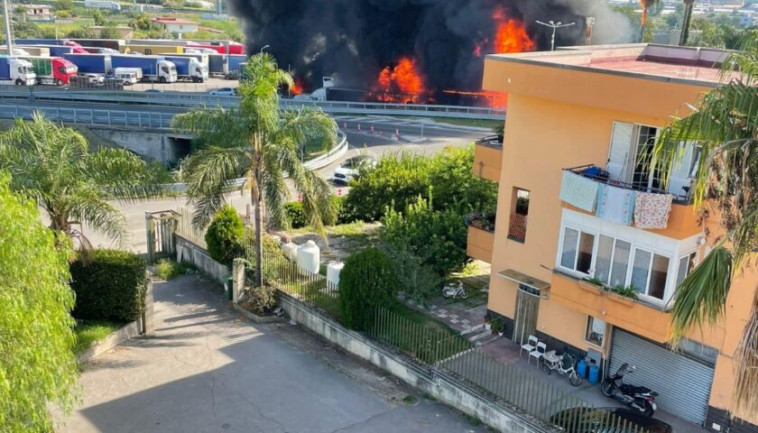
M468 262L468 232L463 221L457 210L438 211L430 200L418 197L402 213L387 207L382 238L386 244L419 257L421 263L444 277L462 270Z

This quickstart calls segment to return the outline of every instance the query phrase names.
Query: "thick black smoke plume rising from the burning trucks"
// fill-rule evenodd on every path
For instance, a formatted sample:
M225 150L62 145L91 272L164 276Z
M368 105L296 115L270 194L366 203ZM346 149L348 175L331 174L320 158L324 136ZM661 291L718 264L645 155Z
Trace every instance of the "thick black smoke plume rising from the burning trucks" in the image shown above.
M379 71L411 56L430 91L481 88L484 46L492 41L493 14L521 21L536 48L550 49L550 29L535 23L577 23L560 29L556 45L585 41L585 17L595 16L593 43L629 41L624 15L607 9L605 0L226 0L241 19L247 52L268 51L282 68L312 90L322 76L340 86L371 88Z

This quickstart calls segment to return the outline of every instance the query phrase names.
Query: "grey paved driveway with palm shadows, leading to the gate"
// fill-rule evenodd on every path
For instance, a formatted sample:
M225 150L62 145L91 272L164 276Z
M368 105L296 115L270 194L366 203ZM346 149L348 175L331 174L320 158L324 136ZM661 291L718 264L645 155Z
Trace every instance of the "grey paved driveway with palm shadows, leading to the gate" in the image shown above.
M60 432L484 432L289 324L252 326L199 276L155 284L157 333L100 355Z

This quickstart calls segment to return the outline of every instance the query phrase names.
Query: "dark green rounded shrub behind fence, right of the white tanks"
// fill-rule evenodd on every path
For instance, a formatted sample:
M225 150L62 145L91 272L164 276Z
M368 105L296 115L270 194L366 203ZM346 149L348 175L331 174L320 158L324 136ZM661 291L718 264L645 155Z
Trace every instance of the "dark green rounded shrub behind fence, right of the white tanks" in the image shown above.
M374 325L377 307L391 307L399 282L393 263L378 248L366 248L347 257L339 275L339 313L346 327L367 330Z

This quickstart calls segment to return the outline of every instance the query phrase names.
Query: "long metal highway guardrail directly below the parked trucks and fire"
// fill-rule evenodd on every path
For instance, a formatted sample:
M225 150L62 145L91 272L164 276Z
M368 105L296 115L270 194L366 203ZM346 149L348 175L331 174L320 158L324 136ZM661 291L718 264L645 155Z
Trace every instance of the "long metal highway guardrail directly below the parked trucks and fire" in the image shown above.
M20 90L20 91L19 91ZM221 97L187 92L139 92L139 91L84 91L84 90L34 90L10 89L0 91L0 99L25 99L29 101L67 101L85 103L139 104L144 106L239 106L239 97ZM414 115L425 117L458 117L471 119L504 118L503 108L486 106L433 106L417 104L384 104L373 102L309 101L281 99L283 108L319 106L330 114L361 115Z

